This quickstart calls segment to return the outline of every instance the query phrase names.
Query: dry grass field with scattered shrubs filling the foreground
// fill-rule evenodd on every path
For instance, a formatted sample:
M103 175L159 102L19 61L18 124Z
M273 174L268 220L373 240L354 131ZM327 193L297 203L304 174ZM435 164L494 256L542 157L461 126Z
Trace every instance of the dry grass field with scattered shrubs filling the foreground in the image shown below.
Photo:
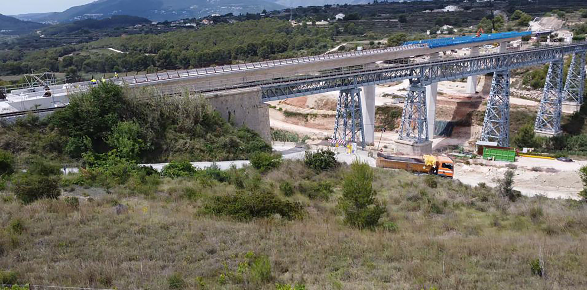
M587 289L583 202L510 202L483 185L376 169L387 212L382 226L358 230L337 206L348 170L316 174L284 161L264 175L239 173L245 190L300 202L303 217L293 220L208 214L212 196L239 192L215 180L165 178L111 193L67 186L59 200L28 205L8 189L0 270L23 283L116 289ZM293 196L280 190L284 180ZM309 194L319 182L332 185L330 196Z

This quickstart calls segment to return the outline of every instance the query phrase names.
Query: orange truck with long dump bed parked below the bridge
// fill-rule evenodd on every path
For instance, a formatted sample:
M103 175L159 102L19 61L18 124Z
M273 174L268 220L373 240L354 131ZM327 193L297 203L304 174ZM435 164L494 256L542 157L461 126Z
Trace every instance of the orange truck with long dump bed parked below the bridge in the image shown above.
M379 168L403 169L447 178L454 176L454 161L445 156L395 156L377 153L376 165Z

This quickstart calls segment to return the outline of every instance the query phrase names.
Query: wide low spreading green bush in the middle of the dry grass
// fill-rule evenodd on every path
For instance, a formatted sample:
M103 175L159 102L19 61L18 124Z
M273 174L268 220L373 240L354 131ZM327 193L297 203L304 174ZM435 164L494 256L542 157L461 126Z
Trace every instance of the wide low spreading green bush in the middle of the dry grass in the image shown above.
M234 217L238 220L271 217L274 214L279 214L286 219L295 219L303 214L300 203L280 200L273 193L259 190L214 196L205 204L204 211L216 216Z

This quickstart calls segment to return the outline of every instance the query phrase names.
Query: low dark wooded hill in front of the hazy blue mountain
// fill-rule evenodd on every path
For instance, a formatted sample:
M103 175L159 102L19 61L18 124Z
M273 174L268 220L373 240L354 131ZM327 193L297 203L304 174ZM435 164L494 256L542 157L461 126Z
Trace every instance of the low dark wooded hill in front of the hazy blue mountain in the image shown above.
M85 19L72 23L63 23L52 25L42 29L43 35L57 35L61 33L74 33L79 30L97 30L97 29L112 29L127 26L134 26L138 24L151 23L147 18L128 16L128 15L114 15L106 19Z

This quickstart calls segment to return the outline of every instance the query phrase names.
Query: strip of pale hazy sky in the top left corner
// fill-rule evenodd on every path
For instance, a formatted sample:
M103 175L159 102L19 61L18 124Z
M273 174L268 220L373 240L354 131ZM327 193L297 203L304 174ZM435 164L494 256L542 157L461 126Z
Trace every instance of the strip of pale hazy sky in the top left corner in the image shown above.
M95 0L2 0L0 14L16 15L38 12L61 12L71 6L88 4Z

